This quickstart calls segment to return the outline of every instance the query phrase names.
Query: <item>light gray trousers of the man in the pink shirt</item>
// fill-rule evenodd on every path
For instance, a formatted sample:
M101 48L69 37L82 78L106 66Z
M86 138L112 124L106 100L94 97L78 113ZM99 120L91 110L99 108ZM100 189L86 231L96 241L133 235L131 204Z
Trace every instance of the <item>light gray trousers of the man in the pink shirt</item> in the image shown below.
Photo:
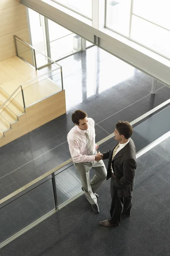
M107 171L103 160L99 162L85 162L85 163L74 163L74 166L77 169L79 174L82 187L85 192L85 196L88 199L90 204L97 204L97 198L94 195L99 186L106 179ZM90 180L90 169L93 168L95 175Z

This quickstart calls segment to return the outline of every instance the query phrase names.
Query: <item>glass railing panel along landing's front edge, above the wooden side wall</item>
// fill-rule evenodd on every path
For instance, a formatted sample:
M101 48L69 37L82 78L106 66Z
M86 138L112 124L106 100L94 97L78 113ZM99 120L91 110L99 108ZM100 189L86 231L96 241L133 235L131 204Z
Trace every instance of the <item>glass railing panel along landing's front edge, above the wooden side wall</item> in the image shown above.
M42 99L45 99L62 90L61 76L59 83L60 69L53 70L45 76L37 77L36 79L23 84L23 94L25 105L29 106ZM57 81L56 81L57 80Z

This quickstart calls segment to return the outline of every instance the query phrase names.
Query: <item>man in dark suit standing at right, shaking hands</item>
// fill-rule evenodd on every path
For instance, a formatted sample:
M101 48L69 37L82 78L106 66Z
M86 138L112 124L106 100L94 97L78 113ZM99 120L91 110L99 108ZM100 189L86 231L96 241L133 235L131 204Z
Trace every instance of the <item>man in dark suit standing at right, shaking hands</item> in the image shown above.
M117 227L121 215L130 217L132 193L136 171L136 148L130 139L133 133L129 122L119 121L114 130L115 140L119 143L110 151L102 154L108 160L107 180L111 178L111 218L100 221L104 227Z

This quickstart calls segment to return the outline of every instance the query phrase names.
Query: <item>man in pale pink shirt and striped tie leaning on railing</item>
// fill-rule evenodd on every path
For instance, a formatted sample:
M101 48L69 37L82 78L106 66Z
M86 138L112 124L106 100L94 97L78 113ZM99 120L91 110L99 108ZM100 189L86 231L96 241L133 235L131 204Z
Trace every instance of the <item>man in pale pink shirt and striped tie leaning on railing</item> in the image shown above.
M72 121L75 126L67 136L71 157L79 173L82 190L94 212L99 213L98 195L95 192L106 179L107 171L101 154L97 153L99 146L95 143L94 120L84 111L76 110L72 114ZM91 168L95 171L92 180L90 180Z

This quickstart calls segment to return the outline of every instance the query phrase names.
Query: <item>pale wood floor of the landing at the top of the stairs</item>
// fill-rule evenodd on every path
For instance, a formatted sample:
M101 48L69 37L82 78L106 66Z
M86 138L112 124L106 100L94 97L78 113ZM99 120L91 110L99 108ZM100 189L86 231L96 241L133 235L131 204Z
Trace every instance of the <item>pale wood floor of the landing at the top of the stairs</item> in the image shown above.
M35 71L33 67L30 67L16 56L0 63L0 76L2 77L0 87L8 93L8 95L6 95L6 99L8 99L8 96L11 95L20 84L24 84L25 82L34 79L33 81L23 85L26 106L61 90L61 87L52 80L46 78L46 76L36 79L36 77L40 75L40 71ZM17 91L17 93L18 92L19 91ZM15 97L16 94L13 97ZM2 93L2 96L3 95L4 93ZM1 100L2 102L5 102L5 98ZM21 93L19 93L15 100L23 106ZM23 113L23 111L21 113Z

